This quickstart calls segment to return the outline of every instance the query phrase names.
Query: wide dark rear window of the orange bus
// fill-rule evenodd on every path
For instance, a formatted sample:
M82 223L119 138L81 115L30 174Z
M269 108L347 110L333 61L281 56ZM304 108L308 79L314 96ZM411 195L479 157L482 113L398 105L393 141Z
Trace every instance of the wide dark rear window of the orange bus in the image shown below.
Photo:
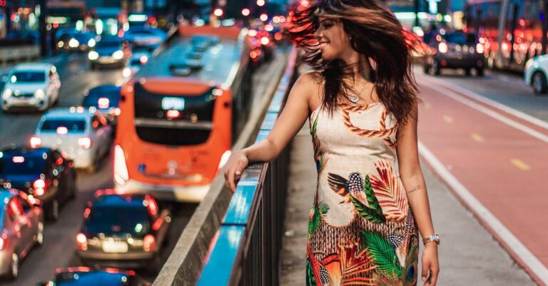
M201 95L159 94L135 84L138 137L162 145L197 145L208 140L213 126L215 88Z

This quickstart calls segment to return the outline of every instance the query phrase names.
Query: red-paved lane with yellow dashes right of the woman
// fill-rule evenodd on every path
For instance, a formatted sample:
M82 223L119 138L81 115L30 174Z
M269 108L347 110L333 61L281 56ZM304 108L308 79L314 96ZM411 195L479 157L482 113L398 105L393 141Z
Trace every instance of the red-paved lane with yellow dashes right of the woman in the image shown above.
M539 260L548 265L546 143L422 86L419 139Z

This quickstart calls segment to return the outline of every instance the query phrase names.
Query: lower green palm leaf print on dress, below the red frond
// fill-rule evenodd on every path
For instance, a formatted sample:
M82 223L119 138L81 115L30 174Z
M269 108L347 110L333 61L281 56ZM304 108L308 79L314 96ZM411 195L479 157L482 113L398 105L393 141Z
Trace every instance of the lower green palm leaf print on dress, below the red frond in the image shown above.
M362 235L364 245L377 265L377 273L390 280L401 279L402 268L390 242L382 235L367 230L362 231Z

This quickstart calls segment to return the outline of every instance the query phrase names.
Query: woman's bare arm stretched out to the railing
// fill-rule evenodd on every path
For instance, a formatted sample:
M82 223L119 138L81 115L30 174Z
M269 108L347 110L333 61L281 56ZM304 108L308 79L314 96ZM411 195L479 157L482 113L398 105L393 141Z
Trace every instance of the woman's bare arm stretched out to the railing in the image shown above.
M305 73L293 84L280 117L263 141L234 152L225 165L225 184L235 190L235 178L250 162L270 162L300 131L308 118L310 98L317 93L317 74Z

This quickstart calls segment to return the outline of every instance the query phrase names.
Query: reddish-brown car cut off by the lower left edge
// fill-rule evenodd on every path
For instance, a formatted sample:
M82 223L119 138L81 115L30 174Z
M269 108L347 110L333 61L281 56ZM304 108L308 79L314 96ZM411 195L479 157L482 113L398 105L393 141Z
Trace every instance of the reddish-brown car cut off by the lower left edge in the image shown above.
M44 244L44 211L39 200L21 190L0 189L0 275L19 276L19 264Z

